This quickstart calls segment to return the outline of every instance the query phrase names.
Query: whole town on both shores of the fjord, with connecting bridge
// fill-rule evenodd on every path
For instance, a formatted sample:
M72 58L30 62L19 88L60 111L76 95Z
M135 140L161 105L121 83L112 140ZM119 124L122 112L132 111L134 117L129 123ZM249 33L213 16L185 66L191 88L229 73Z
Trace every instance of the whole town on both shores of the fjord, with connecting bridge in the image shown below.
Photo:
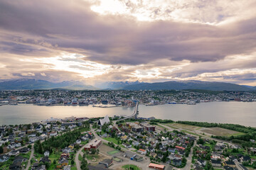
M235 91L1 91L1 105L134 107L128 116L0 127L0 169L256 169L256 128L140 118L139 103L256 101Z

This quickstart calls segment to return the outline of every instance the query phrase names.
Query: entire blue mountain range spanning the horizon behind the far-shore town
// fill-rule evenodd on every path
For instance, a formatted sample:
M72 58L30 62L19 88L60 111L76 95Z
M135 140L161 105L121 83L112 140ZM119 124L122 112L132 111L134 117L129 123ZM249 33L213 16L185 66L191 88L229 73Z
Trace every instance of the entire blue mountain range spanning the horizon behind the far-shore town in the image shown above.
M83 84L80 81L62 81L53 83L40 79L14 79L0 82L0 90L28 90L28 89L70 89L70 90L185 90L202 89L210 91L255 91L256 86L244 86L223 82L209 81L166 81L144 83L139 81L109 81L95 86Z

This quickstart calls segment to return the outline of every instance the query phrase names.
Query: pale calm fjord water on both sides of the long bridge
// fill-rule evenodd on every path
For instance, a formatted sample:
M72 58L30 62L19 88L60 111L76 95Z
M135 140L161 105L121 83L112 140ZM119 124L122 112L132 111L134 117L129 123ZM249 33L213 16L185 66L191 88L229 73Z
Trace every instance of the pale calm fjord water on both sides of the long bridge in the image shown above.
M105 115L131 115L134 108L96 108L92 106L18 106L0 107L0 125L17 125L40 122L51 117L102 117ZM159 106L139 105L139 117L189 120L210 123L235 123L256 127L255 102L210 102L197 105L165 104Z

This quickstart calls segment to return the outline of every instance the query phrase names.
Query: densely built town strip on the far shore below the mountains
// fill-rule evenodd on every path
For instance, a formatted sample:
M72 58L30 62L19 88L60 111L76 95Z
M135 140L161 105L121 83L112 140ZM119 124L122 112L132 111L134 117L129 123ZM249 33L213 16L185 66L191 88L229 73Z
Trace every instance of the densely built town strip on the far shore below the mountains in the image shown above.
M256 101L255 92L245 91L68 91L68 90L21 90L0 91L0 106L18 103L38 106L96 106L133 107L136 102L146 106L160 104L188 104L213 101ZM103 105L112 106L103 106ZM100 105L100 106L99 106Z

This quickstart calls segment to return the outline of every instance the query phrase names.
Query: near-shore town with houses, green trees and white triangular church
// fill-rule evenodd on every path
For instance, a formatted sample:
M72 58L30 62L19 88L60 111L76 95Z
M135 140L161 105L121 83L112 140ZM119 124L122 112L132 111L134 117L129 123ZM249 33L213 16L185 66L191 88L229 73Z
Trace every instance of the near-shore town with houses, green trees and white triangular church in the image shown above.
M234 125L238 127L235 131L228 130L233 126L219 124L223 128L214 129L188 123L139 118L136 113L132 117L50 118L3 125L0 169L256 168L255 135L247 145L235 142L236 136L242 139L255 128ZM226 134L216 134L220 131Z

